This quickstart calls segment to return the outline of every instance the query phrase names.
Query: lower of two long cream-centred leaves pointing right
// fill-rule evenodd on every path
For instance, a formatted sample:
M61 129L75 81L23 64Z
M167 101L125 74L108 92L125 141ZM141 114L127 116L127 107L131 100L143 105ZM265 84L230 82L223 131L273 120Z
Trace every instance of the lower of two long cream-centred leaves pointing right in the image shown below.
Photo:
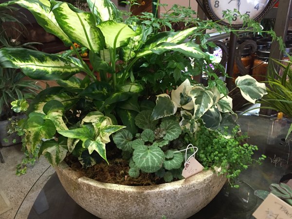
M146 50L144 52L139 52L137 54L137 57L141 57L144 55L148 55L150 53L155 53L155 54L163 54L166 51L176 51L180 52L183 55L186 55L191 58L208 58L209 55L202 52L200 45L196 44L193 41L189 41L186 43L181 43L181 44L176 44L176 43L160 43L151 50Z

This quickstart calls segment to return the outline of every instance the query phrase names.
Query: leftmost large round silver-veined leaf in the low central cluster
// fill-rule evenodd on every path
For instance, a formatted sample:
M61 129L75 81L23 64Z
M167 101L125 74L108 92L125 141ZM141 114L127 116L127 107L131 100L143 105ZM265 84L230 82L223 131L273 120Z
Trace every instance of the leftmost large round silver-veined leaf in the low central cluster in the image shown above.
M129 130L123 129L118 131L112 139L117 148L126 151L130 151L132 149L131 141L133 139L133 135Z

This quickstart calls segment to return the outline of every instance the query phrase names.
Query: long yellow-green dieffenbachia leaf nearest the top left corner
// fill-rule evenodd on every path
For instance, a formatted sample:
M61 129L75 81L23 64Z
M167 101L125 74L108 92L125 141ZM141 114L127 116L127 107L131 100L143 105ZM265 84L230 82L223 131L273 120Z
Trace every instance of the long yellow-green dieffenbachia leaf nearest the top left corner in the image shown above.
M51 12L49 0L13 0L11 2L17 3L21 7L28 9L36 18L37 23L42 26L46 32L60 38L65 45L71 45L72 41L60 28L53 12Z

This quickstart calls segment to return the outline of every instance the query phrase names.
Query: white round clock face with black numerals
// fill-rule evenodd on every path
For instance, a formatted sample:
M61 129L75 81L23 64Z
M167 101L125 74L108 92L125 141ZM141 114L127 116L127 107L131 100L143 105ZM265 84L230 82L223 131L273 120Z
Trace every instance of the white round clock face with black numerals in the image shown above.
M262 15L267 9L272 0L206 0L207 9L211 10L210 16L212 19L222 20L223 23L229 24L229 21L224 19L224 11L238 10L240 14L247 14L250 18L256 19ZM232 24L241 25L243 20L234 13Z

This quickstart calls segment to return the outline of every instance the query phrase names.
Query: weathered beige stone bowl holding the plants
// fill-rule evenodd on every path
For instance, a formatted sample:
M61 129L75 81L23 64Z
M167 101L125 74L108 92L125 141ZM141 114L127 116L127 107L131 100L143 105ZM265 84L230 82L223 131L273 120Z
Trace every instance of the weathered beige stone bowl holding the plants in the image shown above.
M56 172L71 198L101 219L186 219L214 199L226 181L223 175L207 170L160 185L101 183L82 176L65 162Z

